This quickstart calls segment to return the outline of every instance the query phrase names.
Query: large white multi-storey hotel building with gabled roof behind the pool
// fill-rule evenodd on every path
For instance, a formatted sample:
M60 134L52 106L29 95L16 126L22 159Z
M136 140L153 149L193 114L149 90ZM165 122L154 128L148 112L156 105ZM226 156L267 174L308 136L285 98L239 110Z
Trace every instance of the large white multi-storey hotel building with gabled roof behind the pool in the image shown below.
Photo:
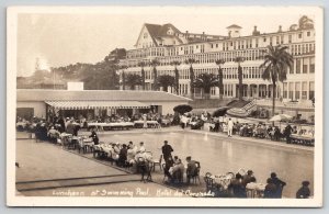
M283 45L294 57L293 69L288 70L287 79L279 83L276 98L283 101L307 101L315 95L315 30L314 27L299 30L293 24L284 31L281 26L273 33L261 33L254 26L250 35L242 36L241 27L230 25L228 35L207 35L180 32L172 24L157 25L144 24L139 33L135 49L126 53L126 58L120 61L127 66L125 74L141 74L139 61L149 63L157 59L158 76L174 76L174 67L171 61L181 61L178 66L180 74L179 94L190 97L190 65L185 59L194 58L194 75L218 74L217 59L224 59L222 65L224 72L224 98L238 98L238 65L234 61L237 56L245 58L241 63L243 70L243 97L246 99L270 99L273 94L272 83L261 78L262 70L259 66L263 63L263 50L269 45ZM146 77L146 90L152 87L152 67L144 68ZM137 87L137 90L141 87ZM174 89L169 89L174 93ZM195 98L200 95L200 89L195 89ZM214 87L211 98L218 98L219 89Z

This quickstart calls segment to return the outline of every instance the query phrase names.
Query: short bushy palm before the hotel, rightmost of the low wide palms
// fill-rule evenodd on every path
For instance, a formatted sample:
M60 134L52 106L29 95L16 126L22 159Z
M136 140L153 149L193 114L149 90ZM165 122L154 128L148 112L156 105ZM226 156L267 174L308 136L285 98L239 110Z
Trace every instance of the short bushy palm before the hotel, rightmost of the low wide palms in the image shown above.
M201 74L193 85L195 88L203 89L205 99L211 99L211 89L218 86L218 79L213 74Z

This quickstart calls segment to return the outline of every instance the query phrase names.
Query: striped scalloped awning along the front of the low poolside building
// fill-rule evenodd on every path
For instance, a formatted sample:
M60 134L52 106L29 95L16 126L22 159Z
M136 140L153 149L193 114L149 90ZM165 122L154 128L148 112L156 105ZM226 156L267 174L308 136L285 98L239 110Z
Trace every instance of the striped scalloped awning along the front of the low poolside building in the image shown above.
M45 101L59 110L88 109L149 109L149 105L137 101Z

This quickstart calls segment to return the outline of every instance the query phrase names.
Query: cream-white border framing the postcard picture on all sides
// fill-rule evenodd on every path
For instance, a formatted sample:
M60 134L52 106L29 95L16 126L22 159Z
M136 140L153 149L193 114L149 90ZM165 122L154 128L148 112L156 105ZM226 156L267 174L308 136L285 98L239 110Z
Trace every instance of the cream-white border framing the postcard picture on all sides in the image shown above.
M20 196L15 191L15 105L16 105L16 35L20 13L106 13L106 14L287 14L313 13L316 27L316 111L313 199L200 199L200 198L89 198ZM319 7L10 7L7 14L7 204L9 206L322 206L322 98L324 98L324 11Z

